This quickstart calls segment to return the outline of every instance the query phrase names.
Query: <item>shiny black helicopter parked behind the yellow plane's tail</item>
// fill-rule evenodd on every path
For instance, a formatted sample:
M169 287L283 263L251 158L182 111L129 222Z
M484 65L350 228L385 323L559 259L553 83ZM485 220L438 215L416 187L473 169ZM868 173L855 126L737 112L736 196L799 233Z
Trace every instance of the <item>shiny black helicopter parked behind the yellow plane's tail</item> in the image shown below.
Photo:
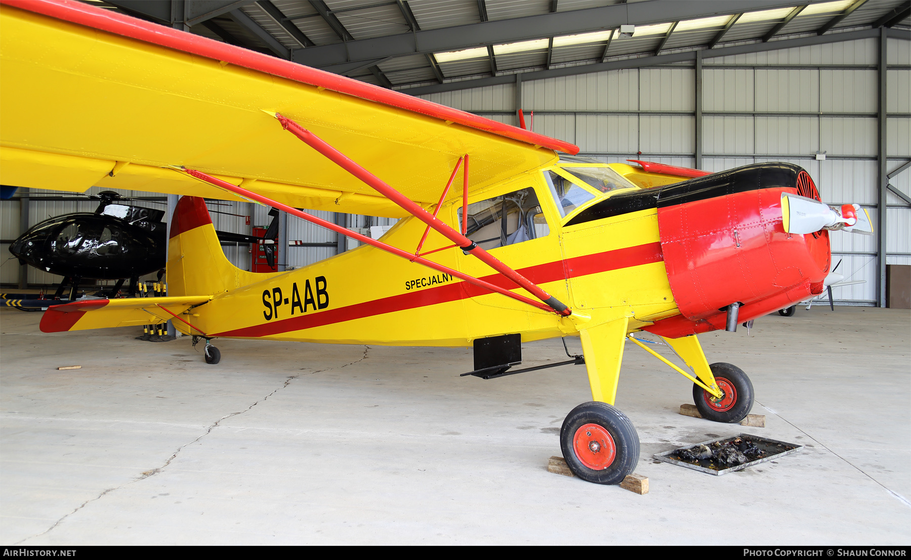
M20 235L9 251L23 265L32 265L64 277L53 299L72 301L82 280L117 280L104 294L117 295L130 280L129 295L136 295L139 276L159 271L164 274L168 225L162 222L164 210L115 204L129 200L114 191L97 195L94 213L74 212L58 215L32 226ZM216 232L226 243L256 244L278 237L278 212L272 210L271 224L262 237ZM275 264L275 245L264 245L266 262ZM67 297L63 297L65 292Z

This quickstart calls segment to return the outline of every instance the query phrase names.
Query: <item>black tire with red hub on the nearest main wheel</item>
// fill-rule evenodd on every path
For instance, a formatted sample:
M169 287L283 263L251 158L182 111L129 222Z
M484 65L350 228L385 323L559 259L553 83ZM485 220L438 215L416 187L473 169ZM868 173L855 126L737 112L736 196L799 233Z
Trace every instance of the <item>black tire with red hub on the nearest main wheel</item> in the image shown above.
M560 448L575 475L599 485L619 485L639 463L636 428L607 403L573 408L560 428Z

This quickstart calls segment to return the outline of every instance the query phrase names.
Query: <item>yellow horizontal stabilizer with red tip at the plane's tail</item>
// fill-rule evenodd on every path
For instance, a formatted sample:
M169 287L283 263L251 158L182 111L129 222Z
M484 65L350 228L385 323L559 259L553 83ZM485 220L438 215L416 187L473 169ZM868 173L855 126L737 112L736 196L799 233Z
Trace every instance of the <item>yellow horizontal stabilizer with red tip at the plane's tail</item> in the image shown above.
M210 299L211 295L178 295L76 301L49 307L41 318L40 327L43 333L63 333L90 328L159 325Z

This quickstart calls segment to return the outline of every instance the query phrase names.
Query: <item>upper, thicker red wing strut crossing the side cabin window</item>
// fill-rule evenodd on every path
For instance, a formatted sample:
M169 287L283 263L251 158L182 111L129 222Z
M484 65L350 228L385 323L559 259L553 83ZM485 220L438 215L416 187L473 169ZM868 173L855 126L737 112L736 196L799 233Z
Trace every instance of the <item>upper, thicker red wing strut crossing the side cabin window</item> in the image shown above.
M500 262L495 256L490 255L484 249L477 246L474 241L468 239L465 235L462 235L459 232L455 231L455 229L449 225L446 225L435 215L431 215L424 208L409 200L407 196L396 191L393 187L386 185L382 179L370 173L361 165L354 163L351 159L348 158L348 156L339 152L333 148L333 146L326 144L319 136L314 135L312 132L302 127L301 125L298 125L288 117L279 115L278 113L271 113L269 111L265 111L265 113L269 113L270 115L274 116L281 123L282 128L292 133L292 135L297 136L303 143L309 145L320 154L325 155L327 158L333 161L335 165L339 165L348 173L354 175L367 185L370 185L381 195L384 195L386 198L393 201L396 205L404 208L404 210L406 210L409 214L414 215L417 219L421 220L426 225L433 227L437 232L455 243L455 245L462 247L462 251L465 252L466 255L475 255L478 259L481 260L481 262L490 266L496 270L496 272L506 276L514 283L516 283L516 285L525 288L529 293L537 297L537 299L541 300L545 303L545 305L548 305L549 308L557 312L558 315L572 315L572 311L568 308L568 306L561 303L556 297L549 295L547 292L528 280L525 276L518 274L515 270ZM468 162L466 161L466 174L468 167L467 163ZM467 175L465 187L467 187ZM465 191L467 191L467 188L465 188ZM462 214L466 215L467 213L463 212ZM465 227L464 224L463 227Z

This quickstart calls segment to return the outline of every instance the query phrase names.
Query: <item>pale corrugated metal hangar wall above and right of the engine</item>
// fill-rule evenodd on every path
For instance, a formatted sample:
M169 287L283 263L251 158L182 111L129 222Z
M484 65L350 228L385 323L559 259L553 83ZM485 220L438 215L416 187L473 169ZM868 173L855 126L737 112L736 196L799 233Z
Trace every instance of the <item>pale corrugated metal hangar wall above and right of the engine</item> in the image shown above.
M864 205L876 223L877 40L704 58L702 167L722 171L757 162L803 166L830 204ZM889 39L889 172L911 157L911 47ZM695 165L695 70L669 65L523 81L521 107L535 132L579 146L606 162L635 157ZM516 85L422 95L517 124ZM796 115L783 115L796 114ZM817 161L817 151L826 159ZM911 170L892 185L911 193ZM889 194L887 263L911 264L911 207ZM876 301L876 238L832 235L839 273L865 284L834 288L845 304Z

